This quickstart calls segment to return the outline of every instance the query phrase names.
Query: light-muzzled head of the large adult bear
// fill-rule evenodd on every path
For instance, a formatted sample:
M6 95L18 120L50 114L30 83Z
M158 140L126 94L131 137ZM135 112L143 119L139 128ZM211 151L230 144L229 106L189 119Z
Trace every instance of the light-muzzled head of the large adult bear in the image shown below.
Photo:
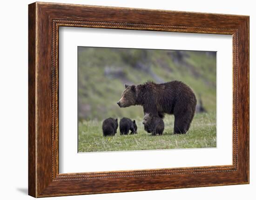
M122 93L121 99L117 102L120 108L135 105L138 96L138 90L135 85L124 84L125 90Z

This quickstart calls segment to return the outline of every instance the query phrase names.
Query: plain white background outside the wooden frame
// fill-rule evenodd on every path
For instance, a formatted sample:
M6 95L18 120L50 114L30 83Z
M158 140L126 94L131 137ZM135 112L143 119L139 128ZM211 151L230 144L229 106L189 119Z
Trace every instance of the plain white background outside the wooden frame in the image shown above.
M94 194L46 199L255 199L256 196L256 13L252 0L47 0L101 6L166 9L250 16L250 184L222 187ZM30 0L2 1L0 16L0 199L33 199L27 196L27 4Z

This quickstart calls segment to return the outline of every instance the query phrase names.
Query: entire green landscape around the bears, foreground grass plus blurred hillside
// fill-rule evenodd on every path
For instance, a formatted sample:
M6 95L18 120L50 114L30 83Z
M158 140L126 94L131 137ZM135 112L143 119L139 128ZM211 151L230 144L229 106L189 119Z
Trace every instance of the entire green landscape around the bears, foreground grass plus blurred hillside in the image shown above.
M195 113L185 135L174 135L174 116L166 115L163 135L143 129L141 106L119 108L123 84L179 80L197 97ZM199 101L200 100L200 101ZM135 119L137 135L103 137L108 117ZM78 151L123 151L216 147L216 52L78 47Z

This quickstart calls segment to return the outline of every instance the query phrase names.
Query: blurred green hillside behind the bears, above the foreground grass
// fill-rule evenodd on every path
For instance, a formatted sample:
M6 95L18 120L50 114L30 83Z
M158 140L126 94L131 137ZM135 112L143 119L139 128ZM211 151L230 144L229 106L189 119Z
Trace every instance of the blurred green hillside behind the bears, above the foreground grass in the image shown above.
M123 84L172 80L188 84L198 104L201 98L216 113L216 52L78 47L79 120L142 117L141 106L116 104Z

